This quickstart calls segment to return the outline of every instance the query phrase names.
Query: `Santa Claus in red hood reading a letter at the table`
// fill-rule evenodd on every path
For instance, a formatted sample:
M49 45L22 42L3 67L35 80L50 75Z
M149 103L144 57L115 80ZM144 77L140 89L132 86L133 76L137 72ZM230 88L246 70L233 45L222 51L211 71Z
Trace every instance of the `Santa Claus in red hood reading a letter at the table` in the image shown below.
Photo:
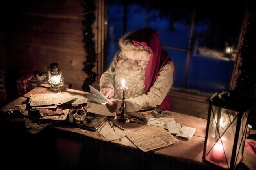
M100 92L110 99L110 112L121 108L122 79L126 81L126 112L151 109L160 105L170 110L167 93L173 84L174 65L160 47L158 33L150 28L123 36L120 51L100 78Z

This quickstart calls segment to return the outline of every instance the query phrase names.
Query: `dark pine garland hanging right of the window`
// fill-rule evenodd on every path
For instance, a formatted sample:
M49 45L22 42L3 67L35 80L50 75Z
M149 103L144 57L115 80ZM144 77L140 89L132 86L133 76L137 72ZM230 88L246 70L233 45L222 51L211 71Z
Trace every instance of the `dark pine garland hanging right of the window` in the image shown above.
M240 94L250 97L256 97L255 11L256 4L252 3L248 10L249 16L245 34L243 35L243 45L239 51L241 65L238 69L241 71L241 74L237 78L234 89Z

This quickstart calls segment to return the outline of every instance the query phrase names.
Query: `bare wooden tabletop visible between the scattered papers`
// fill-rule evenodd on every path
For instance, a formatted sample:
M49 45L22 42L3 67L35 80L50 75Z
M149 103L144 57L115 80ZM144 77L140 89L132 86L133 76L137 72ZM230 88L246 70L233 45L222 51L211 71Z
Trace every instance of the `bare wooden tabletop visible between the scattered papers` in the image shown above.
M74 94L87 94L87 92L82 92L73 89L66 89L65 91L72 92ZM49 87L47 85L40 85L39 87L36 87L35 89L25 94L23 97L19 97L11 103L7 104L3 108L1 108L0 111L4 112L4 110L6 110L7 108L14 108L14 105L20 104L22 101L24 101L24 99L29 97L30 94L44 94L45 92L49 93ZM166 146L164 148L150 151L150 153L153 153L156 156L163 156L168 157L169 159L175 159L179 161L190 162L192 164L197 164L197 167L202 167L202 169L211 167L212 165L209 165L208 163L204 163L202 161L207 120L175 112L168 112L168 114L169 118L174 118L181 125L196 128L196 131L192 139L185 140L178 138L179 141L177 143ZM125 129L125 132L130 132L137 129L145 128L146 125L141 125L137 123L123 123L122 127ZM86 133L82 131L80 128L70 127L69 125L65 124L50 126L49 129L59 130L61 132L69 132L72 134L79 134L81 136L90 137L93 139L107 142L107 140L97 131ZM251 130L251 134L256 134L256 130ZM246 140L252 141L252 139ZM125 148L130 148L132 150L136 150L136 152L142 152L138 150L137 147L126 137L123 137L115 141L111 141L111 144L117 145L117 147L121 146ZM249 150L247 150L247 148L245 148L244 150L244 160L242 162L242 166L240 166L241 169L256 169L256 157L253 156L249 152Z

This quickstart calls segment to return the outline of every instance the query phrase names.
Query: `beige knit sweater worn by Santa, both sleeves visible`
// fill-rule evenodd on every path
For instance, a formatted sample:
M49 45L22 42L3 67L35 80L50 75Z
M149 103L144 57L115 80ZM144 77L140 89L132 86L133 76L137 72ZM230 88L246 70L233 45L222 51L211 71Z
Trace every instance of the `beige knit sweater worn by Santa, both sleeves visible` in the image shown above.
M109 69L101 75L100 89L111 87L114 91L120 90L114 88L114 76L117 62L119 61L118 58L119 52L117 52L115 55ZM168 91L171 89L172 84L173 63L169 62L160 69L158 78L147 94L142 94L141 96L137 96L135 98L125 99L126 112L136 112L139 110L151 109L156 105L160 105Z

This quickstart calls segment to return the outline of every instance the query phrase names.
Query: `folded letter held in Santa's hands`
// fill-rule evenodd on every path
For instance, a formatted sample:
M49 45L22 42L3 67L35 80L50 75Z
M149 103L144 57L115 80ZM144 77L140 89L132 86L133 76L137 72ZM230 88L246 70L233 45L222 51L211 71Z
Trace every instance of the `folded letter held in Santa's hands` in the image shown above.
M100 103L102 105L106 105L108 103L109 99L91 85L90 92L91 93L86 94L84 97L96 101L97 103Z

